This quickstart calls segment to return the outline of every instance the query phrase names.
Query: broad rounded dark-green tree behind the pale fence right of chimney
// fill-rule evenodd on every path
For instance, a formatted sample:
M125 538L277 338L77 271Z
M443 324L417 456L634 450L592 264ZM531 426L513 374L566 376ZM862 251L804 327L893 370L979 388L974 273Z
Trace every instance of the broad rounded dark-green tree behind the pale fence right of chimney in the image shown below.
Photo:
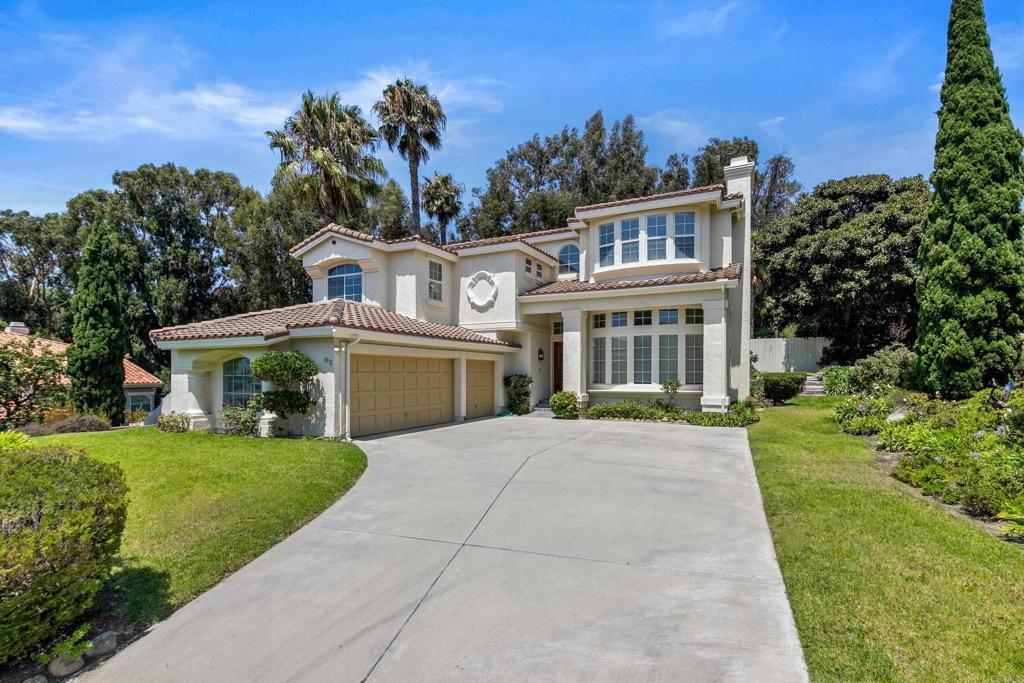
M914 283L929 189L918 176L828 180L754 233L761 297L775 329L833 340L841 361L901 341L916 324Z

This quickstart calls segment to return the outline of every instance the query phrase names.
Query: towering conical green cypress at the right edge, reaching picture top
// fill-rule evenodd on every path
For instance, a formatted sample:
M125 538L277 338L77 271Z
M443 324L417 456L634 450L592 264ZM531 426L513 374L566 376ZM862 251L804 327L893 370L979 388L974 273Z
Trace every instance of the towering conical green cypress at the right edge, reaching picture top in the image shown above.
M982 0L953 0L935 195L919 253L916 344L925 385L947 398L1006 380L1021 359L1022 150Z

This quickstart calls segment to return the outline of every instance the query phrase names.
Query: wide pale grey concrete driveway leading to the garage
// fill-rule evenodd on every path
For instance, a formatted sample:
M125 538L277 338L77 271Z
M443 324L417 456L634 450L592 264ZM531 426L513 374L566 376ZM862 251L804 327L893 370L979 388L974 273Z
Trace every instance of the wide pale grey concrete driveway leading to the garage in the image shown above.
M359 444L347 496L85 680L807 680L744 430Z

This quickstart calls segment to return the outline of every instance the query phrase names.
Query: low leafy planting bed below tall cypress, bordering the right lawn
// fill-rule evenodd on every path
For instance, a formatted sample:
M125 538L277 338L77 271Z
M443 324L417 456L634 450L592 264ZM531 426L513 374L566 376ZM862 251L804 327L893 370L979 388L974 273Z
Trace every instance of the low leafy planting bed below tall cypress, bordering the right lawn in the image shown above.
M892 416L892 417L890 417ZM903 454L893 475L976 517L1013 521L1024 505L1024 394L980 391L959 401L905 390L858 394L836 409L851 434ZM1024 521L1024 520L1022 520ZM1007 532L1024 527L1008 524Z

